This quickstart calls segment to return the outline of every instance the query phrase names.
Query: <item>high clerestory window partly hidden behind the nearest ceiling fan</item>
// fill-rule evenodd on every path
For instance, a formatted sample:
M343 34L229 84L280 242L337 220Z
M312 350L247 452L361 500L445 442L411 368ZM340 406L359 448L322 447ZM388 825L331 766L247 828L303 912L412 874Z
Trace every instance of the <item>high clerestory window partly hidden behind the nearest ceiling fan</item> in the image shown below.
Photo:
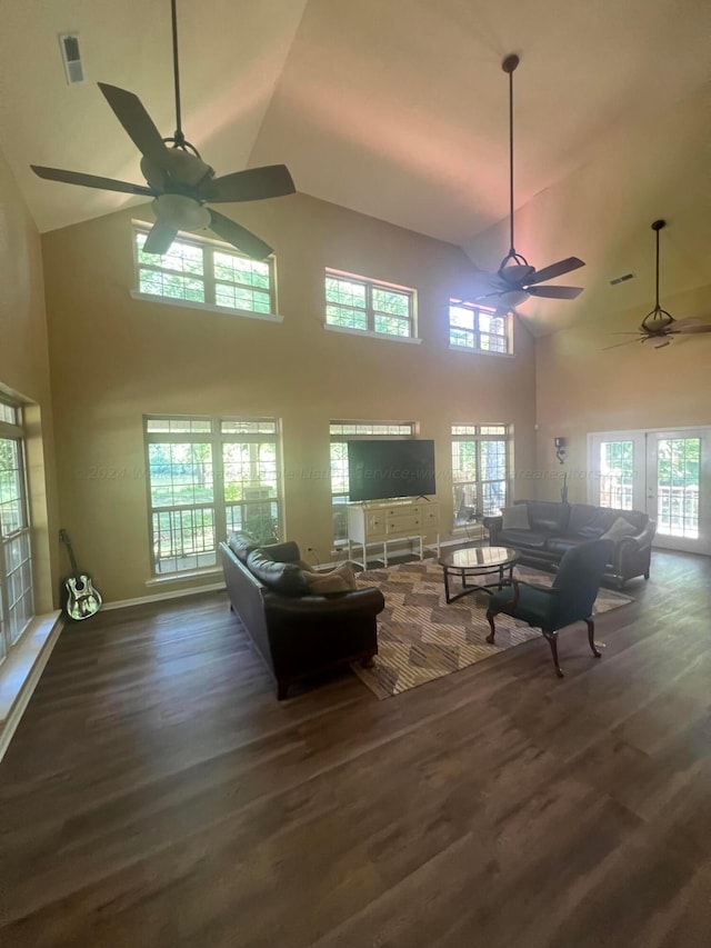
M168 253L146 253L148 227L134 223L140 293L240 312L276 313L273 260L251 260L228 243L181 236Z

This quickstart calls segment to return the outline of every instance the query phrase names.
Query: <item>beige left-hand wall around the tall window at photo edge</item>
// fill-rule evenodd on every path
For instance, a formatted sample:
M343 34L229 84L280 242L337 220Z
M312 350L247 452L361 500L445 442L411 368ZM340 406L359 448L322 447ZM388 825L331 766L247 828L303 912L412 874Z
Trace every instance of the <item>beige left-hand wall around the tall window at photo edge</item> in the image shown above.
M57 492L40 238L0 152L0 390L26 406L36 611L52 608Z

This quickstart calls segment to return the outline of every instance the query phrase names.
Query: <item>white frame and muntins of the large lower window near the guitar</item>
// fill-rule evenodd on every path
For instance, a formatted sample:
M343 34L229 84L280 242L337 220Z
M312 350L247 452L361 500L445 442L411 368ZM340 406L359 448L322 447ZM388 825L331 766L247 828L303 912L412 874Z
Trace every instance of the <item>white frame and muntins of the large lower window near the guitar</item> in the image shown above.
M186 431L179 430L187 428L190 422L198 426L207 427L209 430ZM168 423L174 427L176 430L169 431L151 431L149 428L154 423ZM242 426L247 430L224 430L226 426L239 428ZM257 429L263 430L257 430ZM271 429L271 430L268 430ZM273 528L273 533L269 537L262 537L263 542L277 542L283 536L283 492L282 492L282 467L281 467L281 423L276 418L254 418L254 417L223 417L209 418L204 416L189 415L150 415L143 418L143 439L146 448L146 483L148 497L148 535L149 535L149 552L151 561L151 576L154 578L167 578L191 575L201 571L211 571L218 568L218 548L220 542L227 540L232 530L248 530L246 520L247 515L257 516L263 520L269 519ZM210 446L210 466L212 470L212 499L208 501L198 501L196 503L153 503L151 491L151 465L150 465L150 445L209 445ZM269 443L274 446L276 457L276 473L274 486L269 487L247 487L242 485L244 496L241 499L230 499L226 489L226 472L223 461L223 446L227 443L247 443L262 445ZM246 496L248 490L252 490L252 496ZM269 510L267 510L269 508ZM210 510L212 516L213 545L202 551L189 552L183 550L183 556L180 557L174 552L167 556L160 553L160 529L157 529L156 518L160 515L168 513L169 521L176 513L190 513L190 511ZM239 525L234 522L234 511L239 511ZM274 516L276 513L276 516ZM173 528L171 523L171 535ZM193 528L198 530L197 526ZM193 533L194 536L194 533ZM202 562L200 559L202 558ZM170 560L183 559L188 560L182 569L161 569L161 562ZM194 561L191 561L194 560Z

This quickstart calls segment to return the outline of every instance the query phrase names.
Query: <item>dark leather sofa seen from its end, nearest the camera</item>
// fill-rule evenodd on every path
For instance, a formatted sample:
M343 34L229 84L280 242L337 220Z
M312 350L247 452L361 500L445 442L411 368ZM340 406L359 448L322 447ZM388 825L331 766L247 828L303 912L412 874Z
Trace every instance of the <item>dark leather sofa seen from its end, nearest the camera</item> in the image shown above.
M277 697L316 672L352 661L370 665L378 652L379 589L313 595L294 542L259 547L233 533L220 543L232 611L277 681Z

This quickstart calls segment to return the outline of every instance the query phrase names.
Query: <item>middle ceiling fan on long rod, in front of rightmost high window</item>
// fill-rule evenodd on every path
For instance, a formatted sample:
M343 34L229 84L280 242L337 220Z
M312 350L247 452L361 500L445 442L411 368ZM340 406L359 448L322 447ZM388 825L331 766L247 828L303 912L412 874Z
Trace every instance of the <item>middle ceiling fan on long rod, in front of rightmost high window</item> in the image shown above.
M545 280L562 277L584 262L578 257L567 257L557 263L551 263L542 270L531 267L525 257L517 253L513 243L513 72L520 60L515 53L507 56L501 68L509 74L509 252L499 265L495 273L487 273L482 283L484 290L477 297L479 302L490 300L497 306L497 315L503 316L529 297L547 297L548 299L572 300L580 296L582 287L541 287Z

